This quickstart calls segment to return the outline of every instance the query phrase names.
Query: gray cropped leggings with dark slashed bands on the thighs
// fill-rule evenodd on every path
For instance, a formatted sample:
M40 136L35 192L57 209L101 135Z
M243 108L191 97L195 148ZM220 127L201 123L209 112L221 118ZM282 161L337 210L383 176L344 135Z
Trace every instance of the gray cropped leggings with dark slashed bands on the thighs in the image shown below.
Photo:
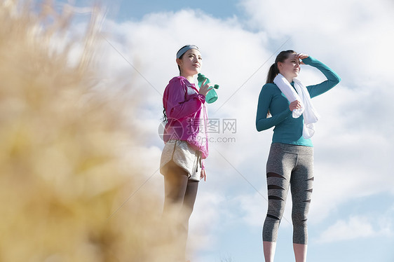
M276 242L290 187L293 243L307 244L306 220L313 186L313 147L271 144L266 177L269 204L263 226L263 241Z

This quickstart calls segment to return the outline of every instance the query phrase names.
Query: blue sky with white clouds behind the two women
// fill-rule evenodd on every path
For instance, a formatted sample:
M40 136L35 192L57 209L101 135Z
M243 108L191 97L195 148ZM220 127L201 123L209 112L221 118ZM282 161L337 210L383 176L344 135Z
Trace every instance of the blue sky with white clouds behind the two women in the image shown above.
M394 261L392 1L115 0L102 6L102 77L141 97L130 113L140 144L130 154L141 157L135 165L146 170L146 190L163 191L157 170L161 93L177 75L181 46L199 46L203 73L221 86L210 118L222 127L224 120L236 120L235 132L211 134L209 177L201 182L191 218L193 262L264 261L264 173L272 130L257 132L254 120L266 72L278 50L286 49L318 58L343 79L314 99L322 118L312 139L308 261ZM307 85L324 81L307 66L300 78ZM288 201L276 261L294 261L290 206Z

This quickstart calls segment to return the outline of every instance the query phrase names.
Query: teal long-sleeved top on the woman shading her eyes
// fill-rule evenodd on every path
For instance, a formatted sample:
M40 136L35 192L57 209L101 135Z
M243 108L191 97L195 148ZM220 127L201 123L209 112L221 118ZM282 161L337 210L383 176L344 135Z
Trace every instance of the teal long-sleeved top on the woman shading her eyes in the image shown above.
M341 78L332 69L313 57L307 57L302 62L319 69L327 78L327 81L318 85L308 85L306 87L311 98L327 92L341 81ZM294 87L294 82L291 85ZM259 104L257 105L257 131L267 130L275 126L272 143L313 146L311 139L304 139L302 136L304 118L302 116L293 118L289 105L290 102L276 84L266 83L261 88ZM267 118L268 112L271 113L271 117Z

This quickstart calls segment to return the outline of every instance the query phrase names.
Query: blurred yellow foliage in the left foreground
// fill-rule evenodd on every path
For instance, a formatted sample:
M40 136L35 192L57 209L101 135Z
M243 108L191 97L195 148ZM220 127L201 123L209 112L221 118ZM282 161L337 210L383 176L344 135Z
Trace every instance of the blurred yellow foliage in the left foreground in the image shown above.
M56 50L70 13L28 2L0 1L0 261L171 261L161 198L122 206L142 172L118 151L133 144L122 103L83 99L97 83L97 14L86 39ZM85 48L74 65L72 46Z

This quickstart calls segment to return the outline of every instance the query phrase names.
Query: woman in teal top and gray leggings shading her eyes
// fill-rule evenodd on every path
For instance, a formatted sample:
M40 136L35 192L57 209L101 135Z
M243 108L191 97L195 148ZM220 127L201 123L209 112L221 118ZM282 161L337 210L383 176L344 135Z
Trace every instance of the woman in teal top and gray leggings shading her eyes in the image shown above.
M301 61L300 61L301 60ZM306 261L308 242L307 215L313 186L313 145L303 137L304 118L292 117L300 109L298 100L290 102L273 83L278 74L294 87L300 64L319 69L327 81L306 87L311 98L333 88L341 78L329 67L313 57L282 51L269 69L266 84L261 88L257 106L257 131L273 129L273 139L266 165L269 205L263 226L263 249L266 261L273 262L278 228L285 210L287 192L292 194L293 247L296 262Z

